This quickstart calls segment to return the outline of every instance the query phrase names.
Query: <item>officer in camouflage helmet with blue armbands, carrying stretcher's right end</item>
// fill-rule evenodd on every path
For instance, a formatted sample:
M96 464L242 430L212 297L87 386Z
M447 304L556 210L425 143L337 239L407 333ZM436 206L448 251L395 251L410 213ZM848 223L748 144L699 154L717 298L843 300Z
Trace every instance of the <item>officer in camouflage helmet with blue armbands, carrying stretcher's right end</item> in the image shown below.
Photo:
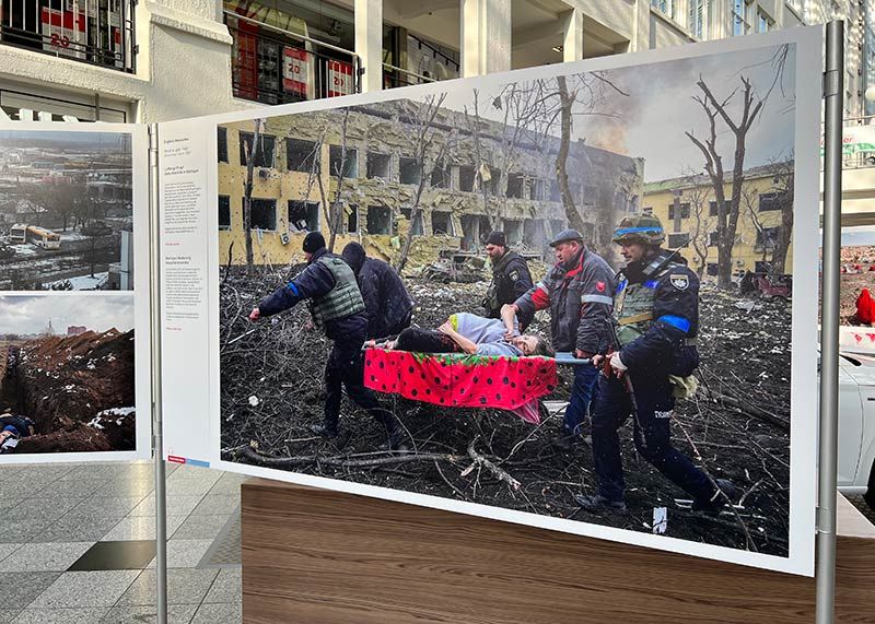
M593 358L604 369L592 416L598 492L575 497L591 513L626 510L617 432L630 415L639 454L692 497L695 510L719 513L735 494L732 482L712 481L672 446L676 388L699 364L699 279L680 256L661 248L664 240L651 214L627 216L614 233L627 267L614 296L618 344Z

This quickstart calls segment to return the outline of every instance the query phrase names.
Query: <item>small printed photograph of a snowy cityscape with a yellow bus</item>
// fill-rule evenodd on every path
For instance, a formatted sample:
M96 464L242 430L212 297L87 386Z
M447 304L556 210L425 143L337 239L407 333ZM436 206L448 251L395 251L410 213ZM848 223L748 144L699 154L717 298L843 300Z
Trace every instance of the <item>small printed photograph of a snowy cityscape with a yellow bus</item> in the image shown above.
M131 136L0 129L0 291L132 291Z

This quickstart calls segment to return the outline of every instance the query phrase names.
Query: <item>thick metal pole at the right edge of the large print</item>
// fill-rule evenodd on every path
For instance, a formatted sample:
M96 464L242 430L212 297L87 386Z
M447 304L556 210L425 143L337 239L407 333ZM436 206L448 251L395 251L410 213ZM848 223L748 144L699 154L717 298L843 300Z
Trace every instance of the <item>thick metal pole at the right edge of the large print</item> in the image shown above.
M836 473L839 428L839 252L844 22L827 24L824 167L824 295L820 322L820 463L817 503L817 624L832 624L836 601Z

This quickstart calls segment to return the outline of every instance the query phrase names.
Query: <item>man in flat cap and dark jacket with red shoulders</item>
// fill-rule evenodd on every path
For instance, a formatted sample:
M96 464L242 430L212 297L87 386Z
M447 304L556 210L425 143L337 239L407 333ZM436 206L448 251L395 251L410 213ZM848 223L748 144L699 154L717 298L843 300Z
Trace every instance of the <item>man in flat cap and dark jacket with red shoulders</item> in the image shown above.
M610 334L607 320L614 305L614 270L584 247L576 229L560 232L550 247L556 249L556 266L508 310L513 309L517 318L530 318L535 310L549 308L557 351L570 351L581 358L604 353ZM574 387L557 440L560 448L570 450L580 439L597 377L598 372L592 366L574 367Z

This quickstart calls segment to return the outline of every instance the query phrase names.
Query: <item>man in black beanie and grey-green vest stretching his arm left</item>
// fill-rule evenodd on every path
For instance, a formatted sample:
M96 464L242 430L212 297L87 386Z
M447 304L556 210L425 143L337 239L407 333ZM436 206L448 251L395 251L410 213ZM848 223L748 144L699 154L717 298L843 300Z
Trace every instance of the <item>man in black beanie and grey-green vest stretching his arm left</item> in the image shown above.
M307 267L303 272L264 298L253 309L249 320L257 321L311 299L314 319L334 341L325 366L325 422L311 428L323 437L338 438L340 399L342 386L346 386L349 398L386 427L389 448L407 450L398 421L381 408L374 393L364 387L361 348L368 333L368 317L355 275L341 258L325 249L325 238L318 232L311 232L304 238L304 256ZM341 436L338 446L343 446L347 439L348 434Z

